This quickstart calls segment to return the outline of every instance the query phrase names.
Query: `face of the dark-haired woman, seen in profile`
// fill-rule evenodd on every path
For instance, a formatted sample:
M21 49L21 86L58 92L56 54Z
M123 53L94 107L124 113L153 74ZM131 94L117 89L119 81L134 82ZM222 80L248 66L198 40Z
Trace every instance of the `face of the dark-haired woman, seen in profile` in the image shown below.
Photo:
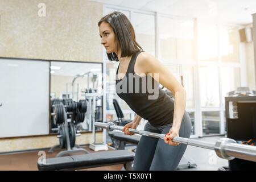
M109 23L102 22L98 27L101 37L101 44L106 48L107 53L117 53L117 44L113 28Z

